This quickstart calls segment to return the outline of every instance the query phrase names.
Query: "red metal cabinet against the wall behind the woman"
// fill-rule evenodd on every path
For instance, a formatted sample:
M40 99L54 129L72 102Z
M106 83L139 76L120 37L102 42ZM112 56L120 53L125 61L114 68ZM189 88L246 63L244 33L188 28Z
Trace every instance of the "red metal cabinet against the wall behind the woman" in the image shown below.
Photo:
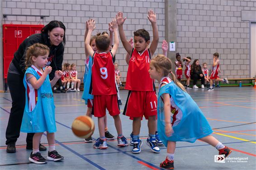
M3 24L4 78L7 78L9 64L22 41L32 34L41 33L43 27L44 25Z

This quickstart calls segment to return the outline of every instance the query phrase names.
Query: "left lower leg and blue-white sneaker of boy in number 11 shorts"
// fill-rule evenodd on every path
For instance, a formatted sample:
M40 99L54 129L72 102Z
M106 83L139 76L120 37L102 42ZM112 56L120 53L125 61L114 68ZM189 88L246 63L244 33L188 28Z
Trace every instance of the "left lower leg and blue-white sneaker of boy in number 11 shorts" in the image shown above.
M142 117L133 118L133 153L140 153L142 141L139 138ZM132 135L131 135L132 136Z

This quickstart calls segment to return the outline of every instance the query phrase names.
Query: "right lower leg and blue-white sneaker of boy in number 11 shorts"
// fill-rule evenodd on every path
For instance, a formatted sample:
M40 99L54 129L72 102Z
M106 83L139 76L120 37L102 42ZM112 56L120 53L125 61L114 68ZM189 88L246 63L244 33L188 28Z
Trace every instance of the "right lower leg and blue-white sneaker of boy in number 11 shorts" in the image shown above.
M147 127L149 132L147 145L152 152L160 153L160 149L156 142L156 116L148 116Z

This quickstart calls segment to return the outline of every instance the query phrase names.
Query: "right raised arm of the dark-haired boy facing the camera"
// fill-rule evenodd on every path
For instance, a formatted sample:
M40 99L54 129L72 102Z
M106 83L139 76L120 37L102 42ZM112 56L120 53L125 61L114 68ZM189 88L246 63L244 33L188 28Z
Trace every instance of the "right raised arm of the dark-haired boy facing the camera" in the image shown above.
M153 30L153 40L152 43L149 47L149 51L151 56L154 55L157 45L158 45L158 41L159 41L159 36L158 36L158 29L157 29L157 25L156 25L156 13L154 13L151 9L148 11L148 16L147 16L148 20L151 22L152 24L152 30Z

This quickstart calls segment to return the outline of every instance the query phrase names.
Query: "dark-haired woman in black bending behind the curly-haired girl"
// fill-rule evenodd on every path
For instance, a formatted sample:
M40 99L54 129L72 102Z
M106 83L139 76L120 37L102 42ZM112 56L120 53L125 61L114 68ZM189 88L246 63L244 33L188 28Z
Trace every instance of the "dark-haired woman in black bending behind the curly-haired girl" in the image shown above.
M15 142L19 138L20 126L25 107L25 87L23 78L25 74L25 58L26 50L34 43L41 43L50 48L47 66L52 67L52 72L49 74L50 79L54 77L56 70L62 70L62 61L65 45L65 25L61 21L51 21L41 30L39 34L33 34L26 38L19 46L19 49L14 53L14 58L9 65L7 83L9 86L12 108L9 115L9 121L6 129L6 152L16 152ZM34 133L28 133L26 142L27 149L33 149L32 140ZM46 151L46 147L40 144L40 151Z

